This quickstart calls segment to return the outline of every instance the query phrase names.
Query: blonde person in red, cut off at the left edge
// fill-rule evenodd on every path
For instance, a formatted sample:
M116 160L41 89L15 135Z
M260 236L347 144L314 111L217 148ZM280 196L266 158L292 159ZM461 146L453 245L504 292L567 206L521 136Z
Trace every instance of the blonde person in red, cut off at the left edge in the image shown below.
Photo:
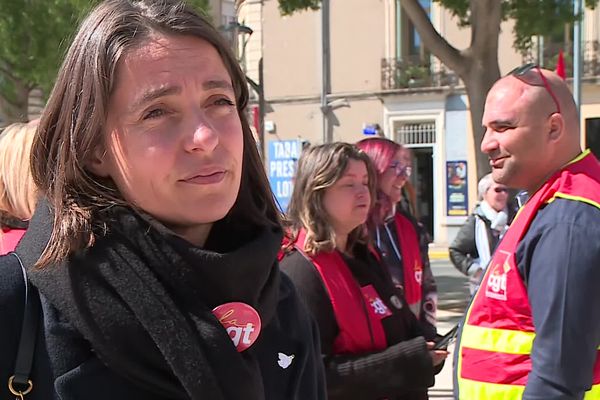
M9 125L0 135L0 255L9 253L25 234L38 192L29 158L37 122Z

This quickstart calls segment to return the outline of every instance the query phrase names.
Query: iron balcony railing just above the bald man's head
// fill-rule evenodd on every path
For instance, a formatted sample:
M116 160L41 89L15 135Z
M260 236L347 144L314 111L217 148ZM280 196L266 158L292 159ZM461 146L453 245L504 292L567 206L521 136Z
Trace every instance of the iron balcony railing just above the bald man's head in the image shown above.
M530 49L523 54L523 64L528 62L535 62L543 64L544 68L555 69L556 62L558 61L558 53L563 44L552 44L547 45L544 49L544 60L543 63L539 62L538 56L535 49ZM582 77L583 78L597 78L600 77L600 42L598 40L588 40L582 43L581 47L583 65L582 65ZM565 72L567 77L573 76L573 56L570 52L565 51Z

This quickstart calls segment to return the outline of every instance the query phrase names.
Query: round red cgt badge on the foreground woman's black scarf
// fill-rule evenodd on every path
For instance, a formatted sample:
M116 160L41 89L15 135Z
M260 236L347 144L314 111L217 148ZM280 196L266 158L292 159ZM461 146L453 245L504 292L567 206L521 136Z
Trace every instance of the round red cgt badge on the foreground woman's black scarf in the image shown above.
M229 334L238 352L252 346L260 335L260 316L246 303L221 304L215 307L213 314Z

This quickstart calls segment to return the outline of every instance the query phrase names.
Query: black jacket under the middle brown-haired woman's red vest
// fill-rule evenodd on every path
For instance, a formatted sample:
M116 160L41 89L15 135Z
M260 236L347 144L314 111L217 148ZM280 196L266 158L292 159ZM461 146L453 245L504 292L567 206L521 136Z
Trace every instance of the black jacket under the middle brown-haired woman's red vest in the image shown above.
M434 382L432 359L419 323L408 309L387 272L366 247L357 246L355 257L344 256L357 283L373 285L388 309L382 320L388 348L356 355L332 354L338 334L331 300L314 265L294 251L281 261L281 269L292 279L319 325L330 399L426 399ZM392 297L401 300L397 308ZM364 313L364 310L357 310Z

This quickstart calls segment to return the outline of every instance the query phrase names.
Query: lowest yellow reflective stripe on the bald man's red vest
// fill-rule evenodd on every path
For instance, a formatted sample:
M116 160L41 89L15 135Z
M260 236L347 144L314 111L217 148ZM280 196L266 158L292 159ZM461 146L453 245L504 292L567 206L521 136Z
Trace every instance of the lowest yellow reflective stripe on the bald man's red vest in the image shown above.
M501 383L486 383L471 379L459 378L459 400L520 400L525 386L504 385ZM584 400L600 399L600 385L592 386L585 392Z

